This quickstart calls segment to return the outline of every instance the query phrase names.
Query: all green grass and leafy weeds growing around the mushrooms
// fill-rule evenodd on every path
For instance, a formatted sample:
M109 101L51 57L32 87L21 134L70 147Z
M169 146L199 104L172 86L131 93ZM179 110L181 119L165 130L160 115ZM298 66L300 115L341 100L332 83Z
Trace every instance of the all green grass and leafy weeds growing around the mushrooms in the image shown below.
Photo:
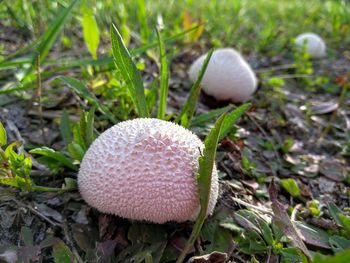
M234 241L238 244L239 253L251 262L256 262L256 258L266 259L271 254L282 260L303 262L308 260L305 255L310 258L313 256L309 255L294 227L290 228L290 215L279 206L277 198L270 200L273 201L272 207L281 227L271 222L271 218L266 219L265 214L245 209L237 209L235 216L229 218L228 213L222 213L218 209L206 220L211 172L218 141L226 136L234 139L231 137L232 130L235 131L233 124L251 104L242 104L231 112L229 111L234 106L228 105L202 114L197 114L196 106L200 94L199 84L212 54L208 50L225 46L234 47L245 55L268 59L277 56L293 60L288 70L293 70L297 75L307 75L308 78L300 80L300 83L305 89L314 92L316 86L321 86L318 82L322 80L312 75L313 64L309 57L304 53L295 53L292 48L293 38L306 31L318 33L328 45L330 58L339 57L339 51L350 45L350 5L347 1L14 0L1 2L0 21L4 32L15 29L16 38L13 50L10 50L12 42L7 44L4 41L0 45L0 96L8 94L30 102L31 98L33 101L35 99L32 97L35 92L33 89L42 86L44 95L43 98L40 97L40 102L45 99L45 92L47 96L49 92L60 93L63 88L69 88L72 94L79 97L80 104L62 110L59 120L62 137L60 150L44 145L26 146L31 148L29 153L33 155L33 160L40 161L50 169L50 175L61 176L67 170L76 174L85 152L98 135L97 130L103 130L119 121L137 116L157 117L172 120L193 130L203 127L203 130L209 130L203 132L208 135L197 175L201 211L187 243L179 241L184 247L183 251L180 253L171 250L167 238L154 241L157 235L165 233L163 228L131 224L127 237L133 241L133 246L125 249L125 255L135 253L140 262L153 262L155 256L160 259L162 255L170 258L170 261L177 259L182 262L198 238L204 236L205 240L212 241L205 252L226 251L227 244ZM172 60L178 55L187 55L188 50L208 52L208 56L198 80L192 88L184 89L187 92L184 105L178 111L167 114L168 93L171 92L169 83L172 80L170 72L176 71L172 68ZM37 60L40 61L40 67L36 66ZM38 70L41 70L40 74L36 72ZM146 83L144 75L151 75L152 81ZM38 85L38 76L43 85ZM274 75L273 70L262 73L260 77L269 100L265 102L266 105L257 101L254 107L269 107L277 115L277 110L286 102L281 87L286 85L287 80L284 80L283 75ZM40 88L40 94L41 91ZM346 91L344 84L342 94ZM345 97L346 94L343 94L340 102ZM72 113L80 114L80 121L70 120L69 115ZM216 119L216 124L210 129L208 123L214 123ZM281 119L283 121L282 117ZM328 131L325 136L327 134ZM267 152L282 151L282 154L287 154L293 144L293 141L290 145L286 141L276 141L275 144L268 138L257 138L256 142L264 145ZM17 149L20 146L19 141L8 142L6 131L0 122L0 183L24 192L76 191L76 180L70 176L60 178L61 182L64 180L61 188L36 185L36 179L31 177L32 159ZM239 148L239 143L233 146ZM268 175L260 173L248 151L242 151L241 154L244 176L265 184ZM291 198L295 198L294 202L305 201L297 180L283 179L278 182ZM318 202L312 201L310 207L314 215L323 213ZM306 231L304 233L323 238L323 242L330 246L329 253L345 251L350 244L350 219L332 203L327 209L330 220L334 220L339 229L326 233L322 229L309 227L301 220L298 222L303 231ZM188 228L184 229L185 231L176 228L175 232L183 234ZM22 230L30 232L28 229ZM137 237L132 236L133 231ZM290 242L288 233L292 233L298 242ZM139 243L140 235L147 242ZM181 237L185 236L186 233ZM94 241L97 242L97 239ZM62 260L62 256L65 256L67 262L76 258L70 251L71 244L69 245L66 246L62 240L55 240L50 245L53 247L52 257L57 262ZM89 253L82 253L82 257L88 259L99 252L96 248ZM123 253L118 257L123 256ZM337 258L343 260L348 255L349 253L339 254L334 260L329 259L333 261L327 262L342 262L337 261ZM316 259L323 260L323 256L317 255Z

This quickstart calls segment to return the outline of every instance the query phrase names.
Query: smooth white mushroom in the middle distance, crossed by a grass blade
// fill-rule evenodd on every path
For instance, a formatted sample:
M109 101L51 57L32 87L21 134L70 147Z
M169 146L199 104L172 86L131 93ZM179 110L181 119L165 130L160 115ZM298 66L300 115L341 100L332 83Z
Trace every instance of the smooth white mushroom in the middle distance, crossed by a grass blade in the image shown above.
M199 57L189 69L194 82L207 54ZM257 87L256 76L240 53L232 48L217 49L209 61L201 86L203 91L218 100L244 102Z

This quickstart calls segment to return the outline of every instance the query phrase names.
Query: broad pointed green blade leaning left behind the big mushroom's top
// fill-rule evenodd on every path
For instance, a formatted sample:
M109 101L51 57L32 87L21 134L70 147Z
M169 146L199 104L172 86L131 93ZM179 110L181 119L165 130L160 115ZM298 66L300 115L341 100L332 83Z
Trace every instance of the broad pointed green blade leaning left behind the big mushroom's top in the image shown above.
M111 26L111 40L114 62L128 85L137 112L140 117L149 117L141 74L114 24Z

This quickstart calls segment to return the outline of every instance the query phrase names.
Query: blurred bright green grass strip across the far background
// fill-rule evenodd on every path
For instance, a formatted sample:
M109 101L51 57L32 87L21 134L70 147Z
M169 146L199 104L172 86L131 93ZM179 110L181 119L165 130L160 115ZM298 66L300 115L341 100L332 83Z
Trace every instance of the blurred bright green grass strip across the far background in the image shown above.
M13 3L14 2L14 3ZM11 5L0 7L0 18L5 24L26 25L32 34L38 36L39 29L54 18L59 4L51 1L13 1ZM89 1L88 1L89 2ZM94 3L95 1L90 1ZM32 12L22 6L32 6ZM40 4L39 4L40 3ZM67 1L60 1L67 6ZM103 3L103 4L102 4ZM145 5L143 4L145 3ZM46 10L40 17L37 9ZM90 5L91 6L91 5ZM16 10L16 18L9 17L7 10ZM121 30L123 38L127 32L135 32L141 44L156 39L154 28L159 17L164 23L164 35L169 36L182 31L183 12L187 11L193 20L202 19L205 23L206 39L213 45L228 45L245 52L266 52L278 54L290 43L290 40L302 31L313 31L327 39L330 46L341 44L345 47L350 42L350 8L346 1L193 1L180 0L164 2L154 1L96 1L94 8L101 37L105 37L109 25L113 22ZM68 24L75 24L79 10L74 11L75 19ZM218 15L220 14L220 15ZM157 21L158 20L158 21ZM123 34L123 31L124 34ZM68 34L69 31L66 31Z

